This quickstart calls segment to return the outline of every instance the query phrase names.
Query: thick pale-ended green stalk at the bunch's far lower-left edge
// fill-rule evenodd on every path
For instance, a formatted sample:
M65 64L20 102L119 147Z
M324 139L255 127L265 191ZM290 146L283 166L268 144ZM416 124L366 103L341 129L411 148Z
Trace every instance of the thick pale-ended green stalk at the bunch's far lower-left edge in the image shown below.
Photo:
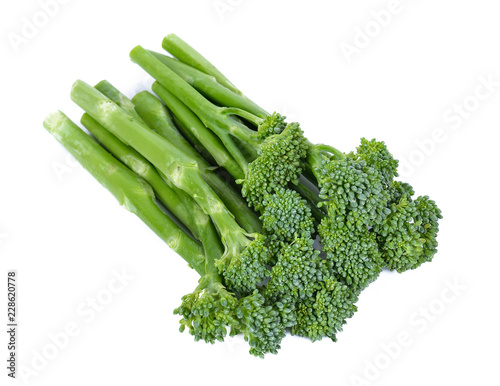
M120 205L138 216L200 275L205 273L203 249L156 205L150 185L117 161L62 112L49 115L43 124L115 196Z

